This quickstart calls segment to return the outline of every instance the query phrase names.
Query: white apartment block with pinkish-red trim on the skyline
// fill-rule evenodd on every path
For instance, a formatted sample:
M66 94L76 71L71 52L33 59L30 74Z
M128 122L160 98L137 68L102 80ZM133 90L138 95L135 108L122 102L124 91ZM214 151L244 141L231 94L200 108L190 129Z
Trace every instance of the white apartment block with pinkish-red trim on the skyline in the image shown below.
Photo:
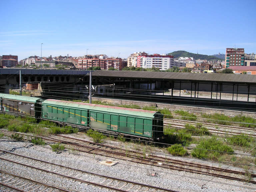
M167 70L172 67L186 67L186 63L174 60L170 57L142 57L141 67L150 69L152 67Z

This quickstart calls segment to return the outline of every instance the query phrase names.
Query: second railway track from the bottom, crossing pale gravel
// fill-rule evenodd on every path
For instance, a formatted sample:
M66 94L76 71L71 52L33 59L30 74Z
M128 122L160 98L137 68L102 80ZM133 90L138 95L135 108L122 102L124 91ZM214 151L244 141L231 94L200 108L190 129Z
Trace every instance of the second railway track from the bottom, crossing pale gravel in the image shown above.
M8 152L0 150L0 159L2 161L7 161L21 166L30 167L38 171L44 171L47 173L55 174L66 179L76 180L78 182L87 183L90 185L95 185L115 191L155 191L155 192L177 192L169 189L164 189L160 187L155 187L151 185L136 183L132 181L127 181L120 178L109 177L106 175L96 174L92 172L83 171L81 169L75 169L72 167L60 165L57 163L47 162L40 159L35 159L27 157L24 155L16 154L13 152ZM33 166L32 166L33 165ZM44 167L43 169L41 167ZM54 171L52 171L54 170ZM71 174L70 174L71 173ZM86 178L86 179L85 179ZM88 179L90 178L90 179ZM100 178L100 179L99 179ZM92 182L91 180L101 180L101 182Z

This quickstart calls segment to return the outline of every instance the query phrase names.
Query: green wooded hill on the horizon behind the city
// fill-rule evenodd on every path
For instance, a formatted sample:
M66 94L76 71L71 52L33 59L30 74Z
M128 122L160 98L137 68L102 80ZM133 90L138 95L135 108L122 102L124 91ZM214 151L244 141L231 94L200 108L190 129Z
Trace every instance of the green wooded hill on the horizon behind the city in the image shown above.
M174 51L172 53L168 53L168 55L173 55L174 58L193 57L194 59L202 59L202 60L223 60L223 59L220 59L220 58L212 56L212 55L195 54L195 53L190 53L187 51Z

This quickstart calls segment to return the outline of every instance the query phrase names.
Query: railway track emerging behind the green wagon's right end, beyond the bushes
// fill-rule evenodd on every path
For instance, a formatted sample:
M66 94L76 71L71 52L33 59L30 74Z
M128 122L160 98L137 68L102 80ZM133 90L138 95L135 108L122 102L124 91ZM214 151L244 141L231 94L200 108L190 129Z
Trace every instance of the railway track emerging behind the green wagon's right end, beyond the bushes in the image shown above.
M187 121L180 119L167 119L164 118L164 127L173 127L176 129L184 129L186 124L194 125L200 124L206 127L211 133L217 133L222 135L238 135L238 134L247 134L251 137L256 137L256 129L254 128L245 128L245 127L235 127L228 125L219 125L212 123L203 123L195 121Z

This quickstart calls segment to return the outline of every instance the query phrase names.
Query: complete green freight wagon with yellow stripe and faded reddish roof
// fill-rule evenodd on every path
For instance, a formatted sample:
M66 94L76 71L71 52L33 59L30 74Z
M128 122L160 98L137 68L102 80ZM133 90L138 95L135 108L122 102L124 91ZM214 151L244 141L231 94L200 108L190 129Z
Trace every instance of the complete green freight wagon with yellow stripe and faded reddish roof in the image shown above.
M163 135L163 115L156 111L47 99L42 118L148 139Z

